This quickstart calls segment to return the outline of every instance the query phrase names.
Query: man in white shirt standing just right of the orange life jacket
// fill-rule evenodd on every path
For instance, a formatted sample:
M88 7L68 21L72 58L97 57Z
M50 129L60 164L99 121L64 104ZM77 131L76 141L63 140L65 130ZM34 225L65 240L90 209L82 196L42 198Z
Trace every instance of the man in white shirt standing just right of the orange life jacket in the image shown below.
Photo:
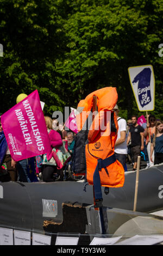
M127 123L126 120L119 117L118 113L120 112L118 106L116 105L113 109L116 113L117 121L118 121L118 134L115 143L115 156L118 161L120 161L123 165L123 168L126 166L126 157L127 157L127 136L126 129Z

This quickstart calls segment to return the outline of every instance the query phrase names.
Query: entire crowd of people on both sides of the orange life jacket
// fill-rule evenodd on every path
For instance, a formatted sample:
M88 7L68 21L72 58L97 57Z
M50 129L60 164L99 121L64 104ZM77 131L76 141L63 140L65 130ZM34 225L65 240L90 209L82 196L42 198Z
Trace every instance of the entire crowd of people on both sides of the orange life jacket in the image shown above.
M154 164L163 163L162 121L156 119L154 115L149 115L147 123L141 126L137 123L136 115L133 115L131 119L126 121L120 117L120 111L117 105L113 111L116 113L119 127L115 143L115 156L122 163L124 170L127 171L127 161L133 166L133 170L136 170L137 156L141 154L145 156L144 159L147 168L154 166ZM53 149L59 149L64 145L65 150L70 155L68 159L71 160L76 133L71 130L66 131L64 125L60 127L56 119L52 120L50 117L45 117L45 122L51 142L51 153L15 162L10 155L0 119L0 182L38 181L39 174L41 174L44 182L55 181L58 177L60 177L60 180L63 180L63 168L57 168ZM36 171L33 180L29 175L32 166L34 166Z

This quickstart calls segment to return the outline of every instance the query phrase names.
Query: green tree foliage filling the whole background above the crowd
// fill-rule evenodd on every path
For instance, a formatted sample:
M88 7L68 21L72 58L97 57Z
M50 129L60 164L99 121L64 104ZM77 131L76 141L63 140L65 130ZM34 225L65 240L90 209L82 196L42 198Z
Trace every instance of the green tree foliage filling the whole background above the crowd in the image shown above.
M38 89L52 115L93 90L117 88L121 116L139 112L128 67L153 65L155 111L163 119L163 0L0 0L1 112ZM163 42L162 42L163 43Z

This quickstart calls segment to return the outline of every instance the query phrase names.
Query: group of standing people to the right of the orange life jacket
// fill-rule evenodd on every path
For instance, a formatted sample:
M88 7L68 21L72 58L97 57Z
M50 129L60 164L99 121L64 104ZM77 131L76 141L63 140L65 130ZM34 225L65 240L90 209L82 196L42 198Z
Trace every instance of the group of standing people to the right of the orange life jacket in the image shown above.
M154 164L163 163L163 123L149 114L148 120L142 126L137 123L136 115L125 120L119 116L116 105L114 111L118 121L118 135L115 143L115 155L124 170L127 170L126 162L129 161L133 170L137 168L137 157L144 155L146 168Z

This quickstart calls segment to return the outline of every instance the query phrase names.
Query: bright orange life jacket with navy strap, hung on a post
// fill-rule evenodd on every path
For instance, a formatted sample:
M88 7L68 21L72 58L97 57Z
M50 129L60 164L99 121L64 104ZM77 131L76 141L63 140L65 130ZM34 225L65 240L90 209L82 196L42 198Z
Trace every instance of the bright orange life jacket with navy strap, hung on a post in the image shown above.
M123 186L124 168L122 164L116 160L114 154L118 123L116 114L112 109L118 99L116 88L105 87L96 90L87 95L85 100L79 102L77 109L81 113L79 116L77 115L78 130L83 129L83 124L85 124L92 110L93 95L97 96L98 113L89 125L89 133L85 145L86 180L89 184L94 185L95 200L99 200L102 199L101 186ZM87 114L85 112L83 116L81 111L82 107L83 111L87 112ZM111 115L111 120L109 121L106 120L108 112L110 112ZM104 123L105 127L101 125ZM101 127L104 127L104 130L101 129Z

